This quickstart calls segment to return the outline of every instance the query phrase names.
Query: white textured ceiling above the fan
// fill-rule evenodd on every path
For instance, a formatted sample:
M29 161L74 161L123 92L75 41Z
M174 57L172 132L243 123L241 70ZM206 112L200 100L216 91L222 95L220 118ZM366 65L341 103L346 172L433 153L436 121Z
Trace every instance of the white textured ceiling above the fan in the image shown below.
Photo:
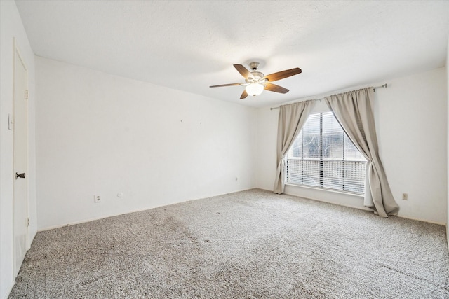
M449 1L18 1L34 53L248 106L445 65ZM286 95L239 100L257 60Z

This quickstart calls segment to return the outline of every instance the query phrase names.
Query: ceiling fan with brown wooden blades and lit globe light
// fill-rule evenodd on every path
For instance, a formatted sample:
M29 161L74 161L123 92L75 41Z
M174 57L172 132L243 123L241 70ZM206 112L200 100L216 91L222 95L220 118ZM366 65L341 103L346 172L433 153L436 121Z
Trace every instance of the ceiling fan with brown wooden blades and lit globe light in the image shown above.
M243 90L240 99L245 99L246 97L248 97L248 95L252 95L253 97L255 97L256 95L260 95L264 90L287 93L287 88L283 88L282 86L273 84L272 82L301 73L301 69L299 67L295 67L295 69L286 69L285 71L278 71L277 73L265 76L260 71L257 71L259 62L251 62L249 66L252 71L248 71L248 69L246 69L246 67L243 67L243 65L241 64L234 64L236 70L239 71L243 78L245 78L245 83L229 83L222 85L213 85L209 87L220 88L223 86L234 85L245 86L245 90Z

